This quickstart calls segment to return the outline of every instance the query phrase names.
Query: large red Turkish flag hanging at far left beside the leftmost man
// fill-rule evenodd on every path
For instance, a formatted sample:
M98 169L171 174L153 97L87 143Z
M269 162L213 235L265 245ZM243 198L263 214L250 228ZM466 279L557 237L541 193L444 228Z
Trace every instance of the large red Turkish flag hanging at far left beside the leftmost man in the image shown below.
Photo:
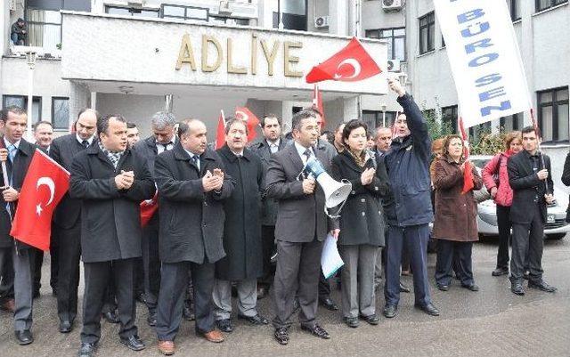
M32 247L49 250L52 215L69 189L69 172L36 149L20 190L10 235Z

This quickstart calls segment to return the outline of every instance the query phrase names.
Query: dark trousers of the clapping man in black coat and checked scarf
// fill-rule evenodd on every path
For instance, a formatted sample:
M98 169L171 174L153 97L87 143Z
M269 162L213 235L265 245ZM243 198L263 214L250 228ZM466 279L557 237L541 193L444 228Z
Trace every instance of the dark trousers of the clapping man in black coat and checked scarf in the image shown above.
M85 293L83 300L83 330L81 342L97 343L101 338L101 312L109 281L117 289L118 335L126 339L137 334L134 321L134 259L120 259L110 262L84 263Z

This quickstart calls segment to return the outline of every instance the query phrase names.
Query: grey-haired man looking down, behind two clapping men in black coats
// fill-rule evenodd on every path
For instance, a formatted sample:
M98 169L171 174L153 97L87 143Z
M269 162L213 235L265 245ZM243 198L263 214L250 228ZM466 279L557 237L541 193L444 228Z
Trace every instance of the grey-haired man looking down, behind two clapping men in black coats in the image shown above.
M176 118L172 113L159 111L151 118L151 136L134 145L134 150L145 159L153 177L154 160L157 155L175 147L175 124ZM144 301L149 309L147 322L150 326L156 326L160 288L158 212L152 215L149 223L142 229L142 265L144 267Z

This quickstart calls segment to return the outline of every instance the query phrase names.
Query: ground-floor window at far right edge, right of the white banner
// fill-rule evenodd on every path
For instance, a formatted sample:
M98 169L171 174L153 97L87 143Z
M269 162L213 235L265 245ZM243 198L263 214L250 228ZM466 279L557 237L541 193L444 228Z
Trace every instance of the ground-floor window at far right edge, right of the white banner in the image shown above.
M568 87L538 92L538 123L544 142L567 142Z

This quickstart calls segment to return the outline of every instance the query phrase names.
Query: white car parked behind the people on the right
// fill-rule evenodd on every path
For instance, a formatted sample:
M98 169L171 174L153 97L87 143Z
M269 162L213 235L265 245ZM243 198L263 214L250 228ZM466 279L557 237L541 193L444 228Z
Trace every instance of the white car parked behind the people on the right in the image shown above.
M491 155L473 155L470 157L470 160L478 168L479 173L481 173L483 167L485 167L487 162L492 158L493 156ZM566 233L570 231L570 224L566 223L566 207L568 207L566 191L555 186L554 196L556 202L547 207L547 222L544 225L544 236L546 239L562 239L566 236ZM493 199L487 199L479 203L477 210L479 235L498 236L499 227L497 226L496 206Z

